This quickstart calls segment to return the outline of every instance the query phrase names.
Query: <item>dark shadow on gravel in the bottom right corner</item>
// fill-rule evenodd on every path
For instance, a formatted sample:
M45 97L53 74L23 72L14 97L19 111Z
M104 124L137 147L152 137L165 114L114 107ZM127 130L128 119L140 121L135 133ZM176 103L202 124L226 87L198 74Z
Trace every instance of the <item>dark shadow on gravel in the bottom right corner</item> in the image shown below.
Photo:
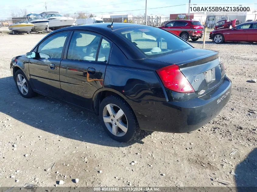
M257 189L257 148L238 163L235 168L235 181L238 192L256 191Z

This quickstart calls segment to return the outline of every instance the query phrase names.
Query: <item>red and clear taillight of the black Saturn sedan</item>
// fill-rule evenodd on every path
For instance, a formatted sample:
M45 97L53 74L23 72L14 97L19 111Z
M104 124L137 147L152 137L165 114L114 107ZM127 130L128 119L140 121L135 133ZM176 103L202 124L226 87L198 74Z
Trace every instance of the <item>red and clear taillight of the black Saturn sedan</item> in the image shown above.
M161 82L164 87L170 89L172 91L176 91L179 93L193 93L195 90L188 82L183 73L179 70L179 66L171 65L167 67L163 67L161 69L156 70L159 77L161 78Z

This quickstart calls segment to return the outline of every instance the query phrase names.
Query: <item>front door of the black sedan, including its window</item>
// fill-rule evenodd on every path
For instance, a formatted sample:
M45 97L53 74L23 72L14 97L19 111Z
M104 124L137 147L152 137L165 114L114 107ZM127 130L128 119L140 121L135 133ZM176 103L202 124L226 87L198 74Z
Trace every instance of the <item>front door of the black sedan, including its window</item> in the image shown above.
M30 58L30 79L34 89L63 99L60 87L59 68L63 47L70 31L49 36L36 48L36 57Z

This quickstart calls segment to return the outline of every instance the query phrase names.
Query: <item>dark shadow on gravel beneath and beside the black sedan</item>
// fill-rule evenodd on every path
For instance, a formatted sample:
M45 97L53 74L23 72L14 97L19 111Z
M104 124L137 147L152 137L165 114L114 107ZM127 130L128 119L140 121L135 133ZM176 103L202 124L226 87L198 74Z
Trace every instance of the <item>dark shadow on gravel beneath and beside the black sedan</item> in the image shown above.
M63 136L103 146L127 147L134 143L143 144L142 139L152 133L142 130L134 140L120 143L107 135L99 122L99 116L87 109L42 95L26 99L19 94L12 76L0 78L0 84L0 112L25 123L25 126L52 133L53 137ZM15 131L15 128L12 130Z

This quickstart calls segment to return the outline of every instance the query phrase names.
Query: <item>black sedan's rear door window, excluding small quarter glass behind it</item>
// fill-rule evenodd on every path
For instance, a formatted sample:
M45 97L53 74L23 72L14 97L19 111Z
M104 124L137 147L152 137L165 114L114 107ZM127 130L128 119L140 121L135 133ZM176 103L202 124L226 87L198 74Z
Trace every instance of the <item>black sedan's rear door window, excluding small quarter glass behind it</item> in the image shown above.
M101 36L90 32L75 31L71 38L67 59L96 61Z

